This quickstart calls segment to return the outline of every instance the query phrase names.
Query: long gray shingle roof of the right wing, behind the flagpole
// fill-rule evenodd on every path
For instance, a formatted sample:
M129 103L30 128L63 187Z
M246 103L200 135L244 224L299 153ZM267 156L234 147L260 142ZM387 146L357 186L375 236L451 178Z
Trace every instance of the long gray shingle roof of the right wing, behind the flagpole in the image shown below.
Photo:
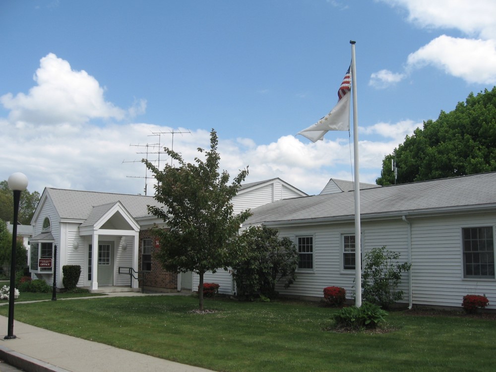
M355 192L285 199L251 210L244 225L354 218ZM496 208L496 172L361 190L362 219Z

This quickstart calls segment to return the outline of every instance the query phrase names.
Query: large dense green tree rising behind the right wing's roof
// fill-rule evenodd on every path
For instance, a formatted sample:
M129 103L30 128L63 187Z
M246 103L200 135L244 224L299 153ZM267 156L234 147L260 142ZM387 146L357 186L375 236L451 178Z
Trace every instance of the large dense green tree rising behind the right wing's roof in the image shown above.
M395 183L394 158L398 184L496 171L496 87L471 93L455 110L441 111L436 121L407 136L384 157L377 185Z

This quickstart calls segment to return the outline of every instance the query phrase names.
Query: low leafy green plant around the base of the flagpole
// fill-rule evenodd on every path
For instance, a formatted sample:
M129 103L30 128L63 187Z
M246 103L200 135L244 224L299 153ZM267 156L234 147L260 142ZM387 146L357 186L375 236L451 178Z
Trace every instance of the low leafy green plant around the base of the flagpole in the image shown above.
M360 308L351 306L341 309L333 315L333 320L339 328L370 329L376 328L386 315L387 312L378 305L364 302Z

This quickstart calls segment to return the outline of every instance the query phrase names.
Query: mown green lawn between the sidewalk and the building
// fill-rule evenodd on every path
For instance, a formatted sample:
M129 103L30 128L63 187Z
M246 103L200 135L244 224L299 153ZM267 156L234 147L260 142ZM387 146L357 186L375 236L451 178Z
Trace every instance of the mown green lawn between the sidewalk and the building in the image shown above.
M296 302L117 297L16 306L18 321L215 371L493 371L494 320L391 312L389 333L325 331L336 311ZM7 315L7 307L0 314Z

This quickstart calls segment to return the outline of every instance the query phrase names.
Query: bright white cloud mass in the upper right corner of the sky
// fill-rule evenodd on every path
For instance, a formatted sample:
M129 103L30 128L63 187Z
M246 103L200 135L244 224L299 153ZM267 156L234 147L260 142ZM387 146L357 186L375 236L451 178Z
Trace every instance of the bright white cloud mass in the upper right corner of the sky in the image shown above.
M467 83L496 82L496 1L494 0L382 0L408 11L408 20L421 28L455 29L469 38L436 37L408 56L405 74L431 65ZM381 74L383 73L383 74ZM388 70L375 72L370 84L382 88L406 76ZM389 79L388 79L389 78Z

